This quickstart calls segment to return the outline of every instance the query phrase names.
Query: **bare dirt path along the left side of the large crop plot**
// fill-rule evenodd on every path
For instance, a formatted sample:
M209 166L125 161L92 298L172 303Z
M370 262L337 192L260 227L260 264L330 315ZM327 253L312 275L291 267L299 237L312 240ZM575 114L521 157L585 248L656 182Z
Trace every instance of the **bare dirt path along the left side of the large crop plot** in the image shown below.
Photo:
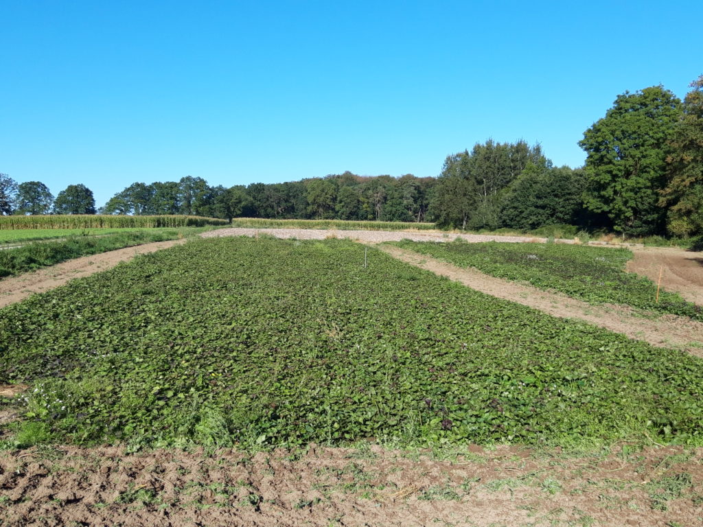
M115 251L82 256L74 260L58 263L55 266L39 269L33 273L25 273L0 280L0 308L14 304L30 296L56 289L74 278L106 271L115 267L121 261L131 260L137 254L167 249L186 240L169 240L167 242L153 242L134 247L125 247Z

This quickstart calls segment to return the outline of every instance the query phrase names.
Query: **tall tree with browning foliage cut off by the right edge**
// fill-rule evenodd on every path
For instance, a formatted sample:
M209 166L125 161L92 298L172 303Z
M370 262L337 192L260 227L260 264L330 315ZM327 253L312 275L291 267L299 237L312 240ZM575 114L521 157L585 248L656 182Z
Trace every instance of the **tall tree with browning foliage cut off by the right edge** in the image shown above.
M703 234L703 75L690 86L669 143L668 181L659 201L671 207L667 229L679 236Z

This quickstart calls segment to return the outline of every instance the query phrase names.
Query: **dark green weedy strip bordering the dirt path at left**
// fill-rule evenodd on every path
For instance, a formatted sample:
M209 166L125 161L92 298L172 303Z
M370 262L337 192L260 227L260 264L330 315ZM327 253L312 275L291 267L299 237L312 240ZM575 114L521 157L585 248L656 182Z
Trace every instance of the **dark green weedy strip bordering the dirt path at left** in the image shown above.
M108 235L70 236L54 242L30 242L15 249L0 250L0 278L52 266L79 256L98 254L144 243L185 238L211 228L122 229Z

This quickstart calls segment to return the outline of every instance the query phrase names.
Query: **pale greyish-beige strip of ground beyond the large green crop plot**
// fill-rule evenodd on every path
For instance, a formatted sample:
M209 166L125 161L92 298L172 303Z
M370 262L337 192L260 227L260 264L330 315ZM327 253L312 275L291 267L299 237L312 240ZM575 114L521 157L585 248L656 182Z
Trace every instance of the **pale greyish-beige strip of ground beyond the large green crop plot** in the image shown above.
M202 233L202 238L220 238L221 236L251 236L269 235L274 238L295 238L297 240L324 240L325 238L349 238L366 243L399 242L400 240L413 240L413 242L451 242L461 238L467 242L538 242L545 243L547 238L534 236L500 236L484 234L456 234L456 233L425 233L409 230L336 230L336 229L287 229L287 228L224 228L209 230ZM555 240L558 243L574 243L574 240Z

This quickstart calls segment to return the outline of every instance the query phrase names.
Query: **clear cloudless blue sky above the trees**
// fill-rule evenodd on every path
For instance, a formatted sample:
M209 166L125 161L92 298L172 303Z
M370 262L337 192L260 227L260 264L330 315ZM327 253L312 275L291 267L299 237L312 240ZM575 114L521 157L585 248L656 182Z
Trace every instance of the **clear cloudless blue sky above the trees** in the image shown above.
M703 74L703 2L0 0L0 172L98 205L134 181L437 176L494 138L576 142Z

